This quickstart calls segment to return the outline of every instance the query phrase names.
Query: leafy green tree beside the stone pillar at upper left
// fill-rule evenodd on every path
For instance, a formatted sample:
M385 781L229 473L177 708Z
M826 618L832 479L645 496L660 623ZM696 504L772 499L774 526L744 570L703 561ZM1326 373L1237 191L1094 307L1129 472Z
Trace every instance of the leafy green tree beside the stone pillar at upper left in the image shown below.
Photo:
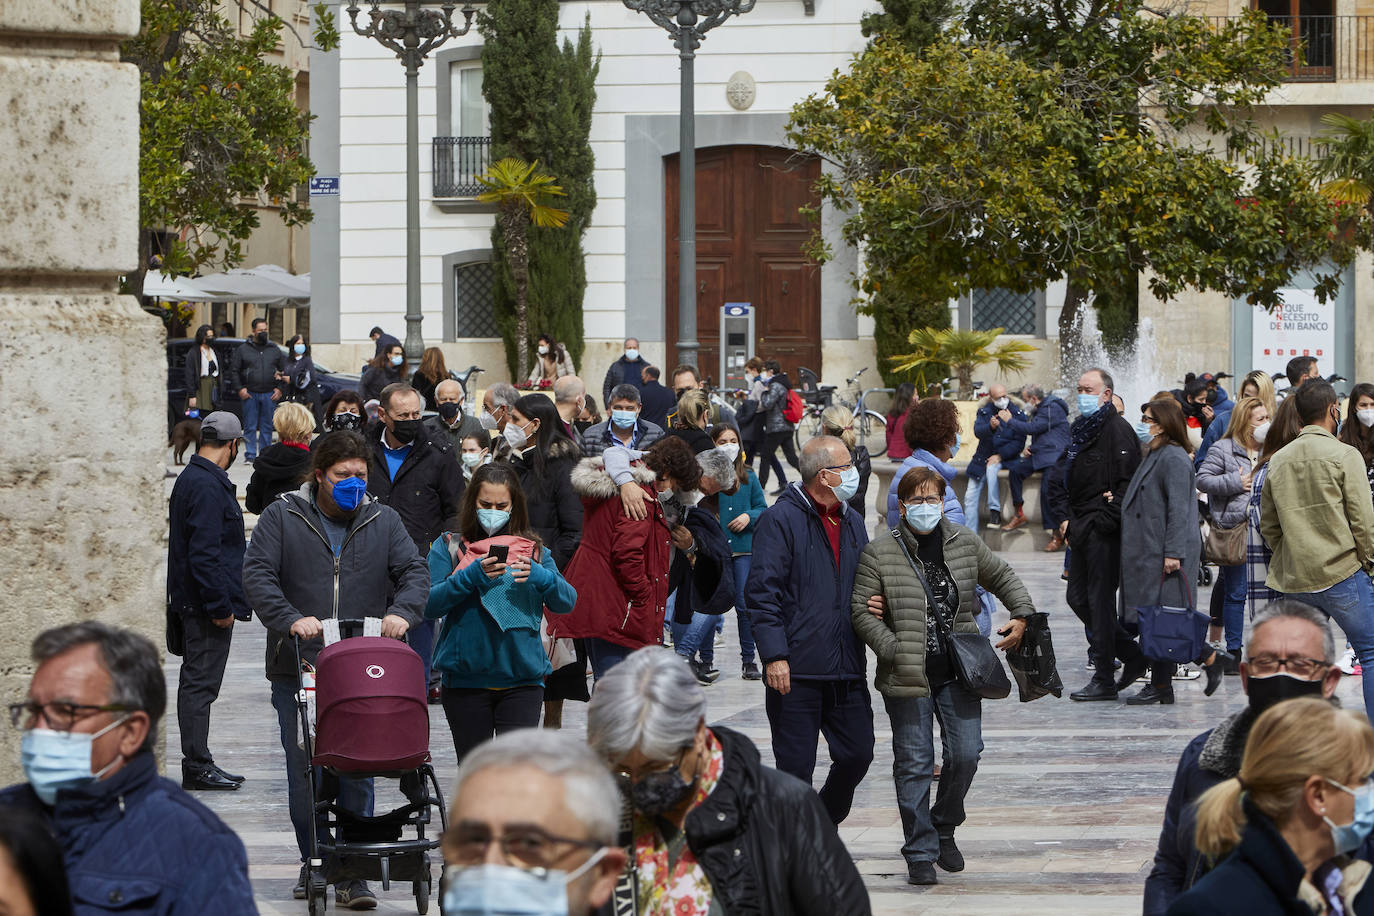
M278 207L287 225L311 218L297 199L315 174L309 115L295 107L291 70L264 62L289 26L256 0L238 3L258 14L245 36L214 0L143 0L139 34L121 47L142 82L135 295L154 257L176 276L238 265L258 227L254 205ZM316 4L315 37L330 47L338 33L324 12Z

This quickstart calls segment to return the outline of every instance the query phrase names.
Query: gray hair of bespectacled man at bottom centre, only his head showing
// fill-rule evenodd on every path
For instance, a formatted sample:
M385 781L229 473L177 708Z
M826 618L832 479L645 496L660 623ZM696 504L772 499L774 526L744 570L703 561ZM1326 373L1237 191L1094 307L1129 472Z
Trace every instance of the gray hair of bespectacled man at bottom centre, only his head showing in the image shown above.
M453 798L463 783L486 769L533 766L563 783L563 803L587 835L611 846L620 828L621 798L616 777L585 743L572 735L547 728L521 728L497 735L480 744L458 768ZM452 812L451 818L458 812Z

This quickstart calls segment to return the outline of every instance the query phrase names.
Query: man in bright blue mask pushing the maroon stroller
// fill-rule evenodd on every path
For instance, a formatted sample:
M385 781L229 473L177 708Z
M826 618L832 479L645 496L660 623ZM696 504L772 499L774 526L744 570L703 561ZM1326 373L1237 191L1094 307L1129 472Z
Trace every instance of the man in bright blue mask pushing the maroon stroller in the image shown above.
M313 663L323 648L323 621L382 618L382 636L403 639L423 619L429 570L396 509L367 496L368 446L352 431L320 438L309 481L279 496L258 518L243 556L243 591L268 629L267 677L287 762L291 825L305 862L309 854L306 759L297 746L300 672L293 637ZM338 803L371 816L372 780L339 779ZM320 835L324 827L320 825ZM323 883L323 876L317 879ZM305 865L293 895L305 898ZM335 904L372 909L361 880L335 886Z

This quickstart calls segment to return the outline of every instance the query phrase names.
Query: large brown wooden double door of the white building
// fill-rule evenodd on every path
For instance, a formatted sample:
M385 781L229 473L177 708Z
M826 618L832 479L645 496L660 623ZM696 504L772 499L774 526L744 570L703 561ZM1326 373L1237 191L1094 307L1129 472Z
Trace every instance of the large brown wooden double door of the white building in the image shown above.
M665 158L668 369L677 363L679 158ZM701 371L720 382L720 306L754 308L753 353L822 371L820 268L804 254L820 161L776 147L697 151L697 338ZM669 383L665 379L665 383Z

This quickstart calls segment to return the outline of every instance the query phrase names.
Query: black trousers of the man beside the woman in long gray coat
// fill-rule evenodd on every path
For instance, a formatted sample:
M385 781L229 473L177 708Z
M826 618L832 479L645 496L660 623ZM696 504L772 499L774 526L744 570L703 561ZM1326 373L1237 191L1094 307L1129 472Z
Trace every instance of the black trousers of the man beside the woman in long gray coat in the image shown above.
M1073 525L1069 525L1072 534ZM1123 662L1140 658L1140 647L1121 626L1117 614L1117 585L1121 580L1121 541L1110 537L1077 538L1069 555L1069 588L1066 600L1083 625L1088 628L1088 655L1092 659L1092 680L1113 684L1113 659Z

